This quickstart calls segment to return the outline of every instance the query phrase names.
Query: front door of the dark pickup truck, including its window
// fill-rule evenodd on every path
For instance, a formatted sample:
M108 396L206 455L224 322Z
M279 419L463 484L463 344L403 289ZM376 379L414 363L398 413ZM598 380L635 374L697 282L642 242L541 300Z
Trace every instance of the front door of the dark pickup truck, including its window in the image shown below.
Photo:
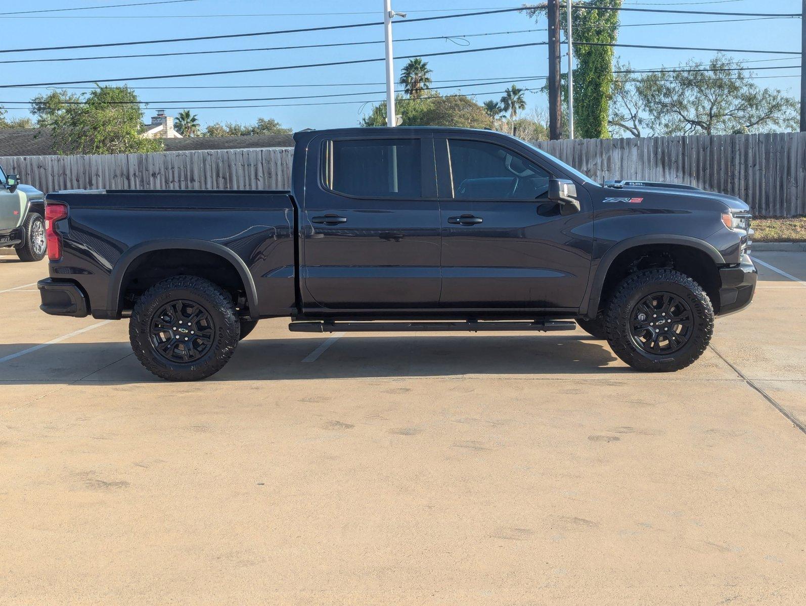
M545 167L483 137L435 138L441 307L578 308L591 263L591 208L560 213ZM586 197L580 188L580 197Z

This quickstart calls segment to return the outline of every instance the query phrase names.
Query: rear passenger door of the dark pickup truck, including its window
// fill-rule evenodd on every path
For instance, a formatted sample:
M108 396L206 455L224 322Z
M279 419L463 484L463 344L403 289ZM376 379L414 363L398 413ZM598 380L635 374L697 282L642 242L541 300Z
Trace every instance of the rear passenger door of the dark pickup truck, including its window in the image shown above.
M308 154L304 306L437 307L439 206L430 134L320 138Z

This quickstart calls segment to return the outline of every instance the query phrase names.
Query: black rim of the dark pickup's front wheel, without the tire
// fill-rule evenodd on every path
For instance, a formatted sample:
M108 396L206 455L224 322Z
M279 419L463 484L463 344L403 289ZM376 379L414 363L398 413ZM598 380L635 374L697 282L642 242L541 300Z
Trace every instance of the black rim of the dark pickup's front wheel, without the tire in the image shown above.
M694 331L692 308L671 292L641 299L630 314L630 336L644 352L667 355L683 348Z

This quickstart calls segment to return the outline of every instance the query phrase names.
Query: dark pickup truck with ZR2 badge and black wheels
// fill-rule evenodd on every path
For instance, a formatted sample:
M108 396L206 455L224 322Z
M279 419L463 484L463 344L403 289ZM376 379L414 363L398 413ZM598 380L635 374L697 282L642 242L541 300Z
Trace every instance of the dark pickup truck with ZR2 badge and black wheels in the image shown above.
M663 183L595 183L486 130L294 136L290 192L55 192L53 315L129 317L135 354L209 377L262 318L292 331L556 331L671 371L750 303L750 212Z

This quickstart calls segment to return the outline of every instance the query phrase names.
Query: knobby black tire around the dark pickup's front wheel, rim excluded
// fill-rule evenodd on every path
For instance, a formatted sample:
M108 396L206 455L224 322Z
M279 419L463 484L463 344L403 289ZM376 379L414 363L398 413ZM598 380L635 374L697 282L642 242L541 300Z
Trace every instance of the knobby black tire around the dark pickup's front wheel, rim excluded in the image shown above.
M633 338L633 312L638 303L654 293L683 298L692 316L692 332L675 352L644 351ZM713 335L713 305L703 288L686 274L669 269L650 269L629 275L616 288L605 312L607 340L613 352L636 370L667 373L684 369L699 358Z

